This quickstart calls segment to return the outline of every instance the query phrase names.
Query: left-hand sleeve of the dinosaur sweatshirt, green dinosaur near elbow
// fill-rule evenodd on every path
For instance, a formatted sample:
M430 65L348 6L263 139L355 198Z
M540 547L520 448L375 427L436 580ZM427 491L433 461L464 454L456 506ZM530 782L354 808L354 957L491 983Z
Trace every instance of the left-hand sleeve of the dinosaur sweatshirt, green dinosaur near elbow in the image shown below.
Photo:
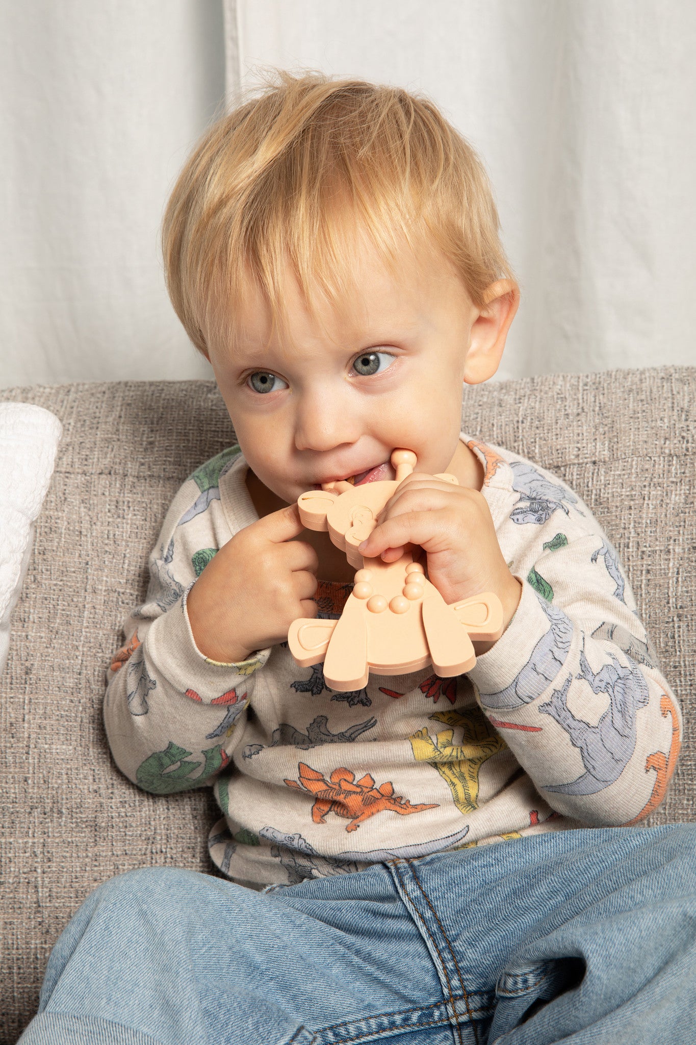
M149 558L143 605L124 624L126 643L106 672L104 723L114 759L147 791L169 794L211 784L230 762L256 673L270 650L218 664L197 649L186 597L232 536L220 481L238 448L190 477L167 513Z

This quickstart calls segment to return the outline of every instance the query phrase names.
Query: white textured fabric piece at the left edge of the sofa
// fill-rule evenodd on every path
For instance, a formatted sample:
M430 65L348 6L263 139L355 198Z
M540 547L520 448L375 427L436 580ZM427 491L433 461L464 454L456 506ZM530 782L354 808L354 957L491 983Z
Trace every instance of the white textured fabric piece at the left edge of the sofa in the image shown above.
M33 524L44 503L63 427L42 407L0 402L0 672L9 614L24 581Z

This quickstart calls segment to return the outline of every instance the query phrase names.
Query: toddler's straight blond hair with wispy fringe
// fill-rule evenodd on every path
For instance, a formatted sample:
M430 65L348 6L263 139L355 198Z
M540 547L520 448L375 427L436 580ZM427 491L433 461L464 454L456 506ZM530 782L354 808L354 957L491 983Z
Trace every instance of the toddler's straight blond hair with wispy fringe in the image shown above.
M479 307L512 276L481 162L432 101L272 70L206 132L165 211L167 288L191 341L207 353L229 335L249 277L283 324L288 263L310 308L316 287L336 304L358 230L392 270L404 238L417 252L425 236Z

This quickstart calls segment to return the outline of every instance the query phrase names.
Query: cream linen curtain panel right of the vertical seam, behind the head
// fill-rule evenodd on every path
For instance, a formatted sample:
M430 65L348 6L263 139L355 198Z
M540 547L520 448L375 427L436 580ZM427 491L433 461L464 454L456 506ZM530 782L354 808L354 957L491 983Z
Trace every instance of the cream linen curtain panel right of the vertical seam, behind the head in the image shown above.
M502 377L696 364L691 0L224 0L258 66L423 90L480 152L522 285Z

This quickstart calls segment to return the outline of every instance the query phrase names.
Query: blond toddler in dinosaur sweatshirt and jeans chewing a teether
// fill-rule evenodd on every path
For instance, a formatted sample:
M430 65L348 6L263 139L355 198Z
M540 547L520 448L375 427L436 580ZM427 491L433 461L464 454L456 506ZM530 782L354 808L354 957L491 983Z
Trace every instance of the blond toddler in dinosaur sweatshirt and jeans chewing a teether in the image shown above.
M693 831L625 830L664 797L676 699L587 507L460 432L519 301L470 146L404 91L281 73L207 133L164 247L238 445L174 498L104 715L140 787L214 786L233 882L102 886L26 1041L648 1041L647 1011L691 1032ZM362 554L422 548L505 630L467 675L334 692L286 640L355 571L296 501L393 479L399 447L415 471Z

